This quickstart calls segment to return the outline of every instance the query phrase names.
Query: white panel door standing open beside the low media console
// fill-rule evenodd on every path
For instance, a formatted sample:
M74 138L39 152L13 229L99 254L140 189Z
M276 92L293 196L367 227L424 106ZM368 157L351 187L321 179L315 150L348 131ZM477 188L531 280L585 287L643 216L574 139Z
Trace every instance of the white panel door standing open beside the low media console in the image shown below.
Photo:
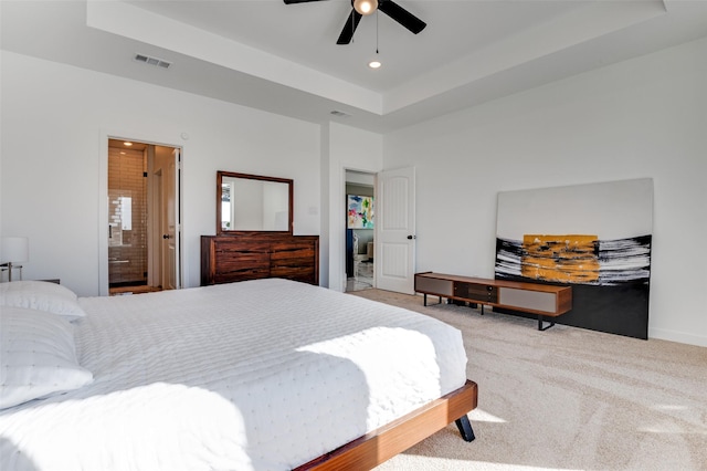
M376 286L414 294L414 167L379 172L376 199Z

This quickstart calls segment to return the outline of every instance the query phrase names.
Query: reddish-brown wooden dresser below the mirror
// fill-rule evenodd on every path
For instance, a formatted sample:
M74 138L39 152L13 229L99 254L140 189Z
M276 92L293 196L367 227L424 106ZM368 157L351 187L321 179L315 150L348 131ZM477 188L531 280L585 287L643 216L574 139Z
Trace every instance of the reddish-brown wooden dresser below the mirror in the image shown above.
M201 285L261 278L319 284L319 237L279 232L201 236Z

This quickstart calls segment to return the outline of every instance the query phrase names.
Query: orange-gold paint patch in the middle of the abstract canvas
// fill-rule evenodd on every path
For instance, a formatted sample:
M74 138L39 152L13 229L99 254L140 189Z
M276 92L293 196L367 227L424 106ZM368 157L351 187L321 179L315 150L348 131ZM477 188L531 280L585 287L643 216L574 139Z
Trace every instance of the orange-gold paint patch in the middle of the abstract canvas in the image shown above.
M562 283L588 283L599 279L597 236L523 237L521 274Z

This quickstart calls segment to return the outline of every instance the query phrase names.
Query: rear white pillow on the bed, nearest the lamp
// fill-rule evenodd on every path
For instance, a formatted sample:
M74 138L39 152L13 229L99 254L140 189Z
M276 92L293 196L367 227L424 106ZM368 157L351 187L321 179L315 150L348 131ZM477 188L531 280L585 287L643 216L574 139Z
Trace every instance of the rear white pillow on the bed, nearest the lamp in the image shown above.
M86 315L76 293L48 281L0 283L0 306L27 307L67 316L71 321Z

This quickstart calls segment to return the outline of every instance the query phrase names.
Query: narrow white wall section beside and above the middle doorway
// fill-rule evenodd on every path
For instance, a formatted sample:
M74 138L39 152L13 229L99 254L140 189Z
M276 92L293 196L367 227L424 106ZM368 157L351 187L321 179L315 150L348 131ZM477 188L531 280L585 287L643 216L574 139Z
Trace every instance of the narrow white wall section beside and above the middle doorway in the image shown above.
M346 283L346 170L382 170L383 138L379 134L329 124L329 266L328 286L344 291Z

